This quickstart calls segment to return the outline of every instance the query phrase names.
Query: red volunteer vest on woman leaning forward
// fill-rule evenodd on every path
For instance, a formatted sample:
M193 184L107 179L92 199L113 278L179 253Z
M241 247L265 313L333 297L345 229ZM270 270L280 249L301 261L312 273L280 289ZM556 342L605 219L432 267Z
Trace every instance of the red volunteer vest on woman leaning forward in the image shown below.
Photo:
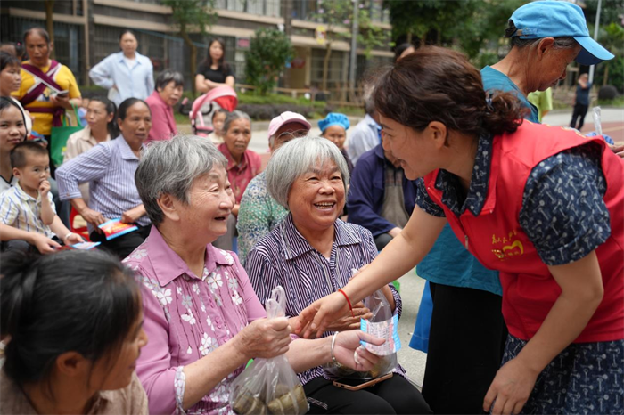
M457 238L481 264L500 272L503 315L509 332L524 340L532 338L561 294L519 224L530 171L554 154L591 141L602 148L607 183L603 199L611 215L611 236L596 249L603 277L603 301L574 342L624 338L624 159L613 154L599 137L588 139L566 128L526 120L515 133L498 135L493 140L488 195L479 216L466 210L457 217L442 203L442 191L435 188L439 170L426 175L424 183L431 199L444 209Z

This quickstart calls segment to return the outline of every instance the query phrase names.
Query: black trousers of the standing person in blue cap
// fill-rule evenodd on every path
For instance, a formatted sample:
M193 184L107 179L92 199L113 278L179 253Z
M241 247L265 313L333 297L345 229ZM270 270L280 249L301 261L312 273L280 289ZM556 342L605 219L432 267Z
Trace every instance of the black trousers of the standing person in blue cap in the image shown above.
M505 350L502 297L430 281L433 312L423 396L436 415L482 415Z

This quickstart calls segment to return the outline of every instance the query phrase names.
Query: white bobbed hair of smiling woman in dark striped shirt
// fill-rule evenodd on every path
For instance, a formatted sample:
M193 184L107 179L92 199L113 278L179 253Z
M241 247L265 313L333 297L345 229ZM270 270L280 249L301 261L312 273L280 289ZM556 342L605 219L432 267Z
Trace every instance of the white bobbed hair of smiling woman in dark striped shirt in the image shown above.
M349 167L336 144L322 137L300 137L280 147L267 166L267 191L284 208L288 208L288 193L300 175L328 161L336 164L342 175L345 192L349 184Z

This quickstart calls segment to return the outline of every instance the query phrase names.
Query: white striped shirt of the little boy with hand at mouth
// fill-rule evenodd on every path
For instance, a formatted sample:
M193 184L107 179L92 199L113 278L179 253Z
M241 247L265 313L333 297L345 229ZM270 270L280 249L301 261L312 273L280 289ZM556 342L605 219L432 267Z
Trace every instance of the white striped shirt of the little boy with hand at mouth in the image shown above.
M47 198L56 214L51 191L48 191ZM40 233L48 238L55 236L50 226L41 220L41 195L37 199L33 198L21 189L20 183L0 195L0 222L22 231Z

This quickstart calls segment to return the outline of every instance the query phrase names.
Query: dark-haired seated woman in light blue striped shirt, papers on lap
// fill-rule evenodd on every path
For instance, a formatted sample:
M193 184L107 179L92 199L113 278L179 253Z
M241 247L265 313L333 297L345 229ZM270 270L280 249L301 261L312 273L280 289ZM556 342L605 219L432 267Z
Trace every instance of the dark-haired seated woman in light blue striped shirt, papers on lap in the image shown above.
M103 248L123 259L150 232L150 218L145 215L135 185L141 150L152 128L150 107L144 101L128 98L119 105L117 123L119 137L70 159L56 170L56 179L61 199L71 200L71 206L88 223L91 240L101 242ZM82 199L80 183L90 183L88 206ZM97 226L118 217L125 224L135 224L138 230L106 240Z

